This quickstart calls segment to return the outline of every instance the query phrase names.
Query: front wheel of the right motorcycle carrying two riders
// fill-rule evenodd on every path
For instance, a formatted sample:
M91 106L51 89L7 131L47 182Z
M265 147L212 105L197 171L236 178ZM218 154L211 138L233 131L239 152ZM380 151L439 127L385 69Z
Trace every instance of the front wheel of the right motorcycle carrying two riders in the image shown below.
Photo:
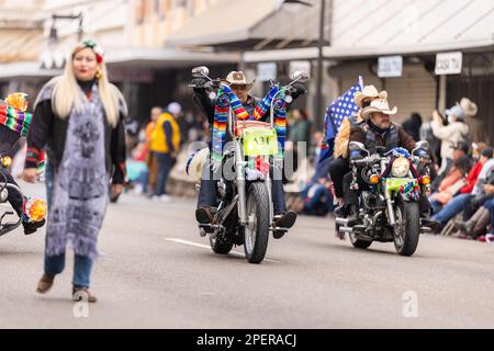
M401 256L412 256L417 250L420 236L420 211L417 202L396 201L394 247Z

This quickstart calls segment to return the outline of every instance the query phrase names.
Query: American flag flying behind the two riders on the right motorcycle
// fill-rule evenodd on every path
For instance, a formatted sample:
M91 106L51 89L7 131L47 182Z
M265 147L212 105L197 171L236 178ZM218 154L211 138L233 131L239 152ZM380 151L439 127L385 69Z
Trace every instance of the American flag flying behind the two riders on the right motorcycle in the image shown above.
M359 106L355 103L355 94L362 91L362 83L359 81L348 89L341 97L335 100L326 109L324 117L323 143L321 145L319 162L332 157L335 149L335 138L345 118L351 117L359 112Z

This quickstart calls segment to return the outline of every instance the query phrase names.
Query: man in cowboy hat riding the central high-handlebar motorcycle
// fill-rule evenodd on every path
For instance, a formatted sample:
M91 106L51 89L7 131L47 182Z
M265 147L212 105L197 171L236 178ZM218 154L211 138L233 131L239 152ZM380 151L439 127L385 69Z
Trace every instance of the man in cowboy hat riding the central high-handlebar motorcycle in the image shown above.
M207 117L207 122L210 124L210 133L214 123L214 106L215 101L211 100L204 84L207 82L204 78L195 78L192 80L192 86L194 88L193 100L198 104L198 106L204 112ZM249 95L248 91L254 87L254 81L247 82L247 79L242 71L232 71L225 79L225 82L229 86L233 92L240 100L243 106L247 110L249 115L252 115L257 104L260 99ZM294 84L295 92L292 93L292 98L296 99L301 94L305 93L306 90L301 84ZM265 114L265 117L261 118L261 122L267 122L269 113ZM216 196L216 181L213 179L213 170L212 165L206 163L204 166L205 171L210 172L210 177L203 177L201 180L201 189L199 192L198 199L198 208L195 211L195 219L200 224L213 224L213 207L216 207L217 196ZM284 201L284 190L282 180L274 179L272 181L272 202L274 206L274 218L276 225L278 227L291 228L296 222L296 213L287 211L287 204ZM283 236L283 233L276 235L274 238L279 239Z

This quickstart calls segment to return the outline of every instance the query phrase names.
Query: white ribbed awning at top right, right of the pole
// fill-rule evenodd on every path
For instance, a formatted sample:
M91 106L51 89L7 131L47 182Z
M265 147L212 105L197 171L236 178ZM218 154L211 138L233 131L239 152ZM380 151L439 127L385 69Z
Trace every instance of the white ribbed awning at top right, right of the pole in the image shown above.
M329 58L474 49L494 44L492 0L334 0Z

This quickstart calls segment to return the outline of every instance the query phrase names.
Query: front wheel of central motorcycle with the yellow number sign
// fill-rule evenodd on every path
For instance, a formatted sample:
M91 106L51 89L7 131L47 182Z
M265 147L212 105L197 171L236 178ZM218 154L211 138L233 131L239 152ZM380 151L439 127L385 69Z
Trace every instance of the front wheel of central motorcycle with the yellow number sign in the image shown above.
M269 239L269 195L266 185L251 183L247 197L247 225L245 226L245 256L249 263L265 259Z

